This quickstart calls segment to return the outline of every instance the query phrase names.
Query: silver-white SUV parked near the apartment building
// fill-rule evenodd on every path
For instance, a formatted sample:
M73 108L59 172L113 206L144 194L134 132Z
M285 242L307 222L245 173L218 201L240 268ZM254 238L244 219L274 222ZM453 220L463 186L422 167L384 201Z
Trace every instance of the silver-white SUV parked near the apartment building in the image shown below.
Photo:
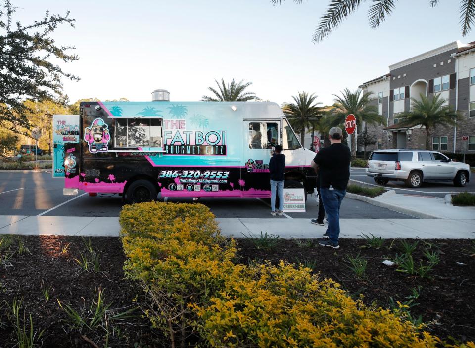
M366 175L385 185L389 180L400 180L407 187L420 187L423 181L452 181L463 187L470 181L470 166L452 161L436 151L377 150L366 165Z

